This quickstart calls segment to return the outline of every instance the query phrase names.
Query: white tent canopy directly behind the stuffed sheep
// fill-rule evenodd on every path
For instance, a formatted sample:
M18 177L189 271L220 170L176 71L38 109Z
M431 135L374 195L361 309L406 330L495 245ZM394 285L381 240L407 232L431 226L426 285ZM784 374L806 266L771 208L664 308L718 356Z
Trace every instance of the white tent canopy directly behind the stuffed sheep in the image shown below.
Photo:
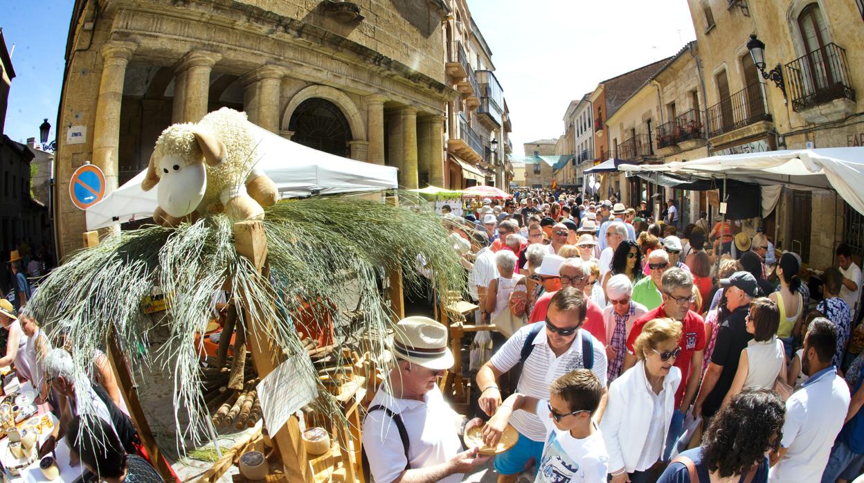
M252 125L257 137L253 156L276 183L280 199L312 194L340 194L396 188L397 168L334 156L278 137ZM156 188L141 189L146 169L86 210L87 230L143 219L156 210ZM158 187L158 186L157 186Z

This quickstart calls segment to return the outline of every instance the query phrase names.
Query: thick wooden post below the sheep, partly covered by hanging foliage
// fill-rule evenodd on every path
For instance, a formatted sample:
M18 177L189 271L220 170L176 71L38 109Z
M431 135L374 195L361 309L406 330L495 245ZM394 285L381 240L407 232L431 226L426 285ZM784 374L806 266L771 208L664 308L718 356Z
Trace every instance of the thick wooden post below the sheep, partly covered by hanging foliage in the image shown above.
M257 220L235 223L234 244L237 246L238 255L249 258L258 271L264 272L262 276L266 276L267 270L265 270L264 265L267 261L267 238L264 235L264 224ZM234 296L242 299L245 294L240 292ZM243 304L243 306L244 320L250 321L253 315L247 307L251 304ZM263 321L263 317L256 318ZM270 323L271 321L263 322ZM246 346L252 353L252 364L255 365L258 377L263 379L270 372L273 372L285 358L279 347L267 339L265 334L259 334L257 330L253 330L254 328L246 327ZM243 357L243 354L234 354L234 357ZM279 429L276 435L271 436L273 444L282 457L288 480L312 483L312 469L309 466L306 448L303 448L300 423L297 421L297 417L289 417L283 428Z

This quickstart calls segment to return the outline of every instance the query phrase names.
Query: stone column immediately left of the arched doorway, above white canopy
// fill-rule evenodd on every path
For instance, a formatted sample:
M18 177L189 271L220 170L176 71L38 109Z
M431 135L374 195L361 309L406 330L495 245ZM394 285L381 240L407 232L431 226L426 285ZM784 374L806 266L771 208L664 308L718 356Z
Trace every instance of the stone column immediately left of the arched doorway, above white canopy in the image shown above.
M285 70L265 65L247 73L240 81L246 88L244 104L249 120L270 132L279 132L282 92L279 86Z

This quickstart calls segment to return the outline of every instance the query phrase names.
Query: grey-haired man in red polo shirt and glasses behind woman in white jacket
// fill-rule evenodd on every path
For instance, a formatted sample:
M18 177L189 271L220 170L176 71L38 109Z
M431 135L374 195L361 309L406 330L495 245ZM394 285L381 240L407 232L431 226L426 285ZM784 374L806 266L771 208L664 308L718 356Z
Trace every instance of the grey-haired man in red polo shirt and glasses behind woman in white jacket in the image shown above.
M705 328L702 317L689 309L690 303L695 300L693 276L686 270L674 267L666 270L661 283L663 303L633 322L633 328L627 336L627 353L624 354L624 367L621 373L636 364L633 344L639 334L642 334L642 327L645 327L648 321L669 317L681 322L681 340L678 340L681 353L675 359L675 366L681 370L682 384L678 385L678 391L675 393L676 410L669 426L669 436L666 438L664 460L668 460L672 446L683 432L684 413L689 410L699 389L702 358L705 356Z

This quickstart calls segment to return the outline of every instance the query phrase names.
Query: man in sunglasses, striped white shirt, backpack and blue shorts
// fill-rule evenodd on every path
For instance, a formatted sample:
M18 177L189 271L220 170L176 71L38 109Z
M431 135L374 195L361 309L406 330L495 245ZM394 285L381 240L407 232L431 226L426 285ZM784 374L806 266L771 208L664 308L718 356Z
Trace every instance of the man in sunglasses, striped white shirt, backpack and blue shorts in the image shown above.
M549 397L552 382L575 369L594 372L606 388L606 350L593 335L581 330L586 312L587 302L580 289L559 290L550 301L544 321L520 328L480 368L477 373L480 409L489 416L495 414L501 404L496 381L520 363L522 373L517 391L530 397ZM595 413L597 420L605 407L604 389ZM518 410L511 416L510 424L518 431L519 439L510 451L495 458L499 483L516 481L532 459L539 464L546 439L546 427L534 414Z

